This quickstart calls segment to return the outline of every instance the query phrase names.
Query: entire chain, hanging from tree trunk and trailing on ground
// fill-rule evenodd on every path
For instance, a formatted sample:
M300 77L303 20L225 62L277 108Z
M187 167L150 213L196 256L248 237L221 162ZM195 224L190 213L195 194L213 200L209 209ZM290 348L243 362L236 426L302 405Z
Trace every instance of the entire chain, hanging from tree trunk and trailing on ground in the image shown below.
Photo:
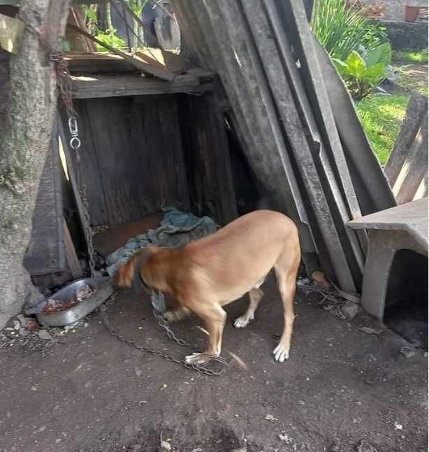
M78 180L76 181L78 184L78 191L80 195L80 202L82 207L82 226L85 233L85 238L87 240L87 249L88 249L88 256L89 256L89 268L91 270L92 277L96 276L95 271L95 251L94 251L94 245L92 242L92 228L90 223L90 217L89 217L89 203L87 198L87 191L86 191L86 185L85 181L82 180L82 159L80 156L80 148L82 147L82 141L79 137L79 129L78 129L78 113L73 108L73 93L71 89L71 77L70 72L68 71L68 64L66 59L64 58L64 52L59 52L57 50L54 50L50 43L43 37L43 35L36 30L27 20L25 20L22 15L18 14L17 18L20 19L24 24L26 25L27 29L31 31L32 34L34 34L38 41L45 47L49 52L49 59L54 63L55 66L55 73L57 75L57 85L59 89L59 94L61 96L61 100L64 103L64 107L66 108L66 115L68 118L68 131L70 133L70 140L69 140L69 146L71 149L75 152L76 161L78 162L79 170L78 170ZM101 319L103 320L104 326L106 326L109 333L116 337L119 342L122 342L122 344L126 344L129 347L133 347L135 349L145 351L146 353L150 353L154 356L159 356L160 358L163 358L164 360L169 361L170 363L175 363L178 365L182 365L186 369L189 370L195 370L196 372L199 372L201 374L210 375L210 376L219 376L223 374L226 367L228 367L229 363L221 356L210 356L212 360L215 360L223 366L221 370L212 370L205 367L205 365L195 365L192 363L187 363L186 360L177 359L174 356L168 355L166 353L162 353L159 350L156 349L150 349L149 347L145 347L143 345L136 344L135 341L126 339L122 335L119 335L115 328L113 328L112 324L110 323L108 316L107 316L107 310L108 310L108 302L106 302L103 306L100 307L100 314ZM154 311L154 317L157 319L157 322L163 330L166 331L166 335L170 340L173 340L176 342L176 344L179 344L184 347L190 347L191 349L197 350L198 347L194 347L191 344L188 344L186 341L176 337L176 335L173 333L173 331L168 326L168 322L166 319L163 319L163 316L161 314L158 314Z

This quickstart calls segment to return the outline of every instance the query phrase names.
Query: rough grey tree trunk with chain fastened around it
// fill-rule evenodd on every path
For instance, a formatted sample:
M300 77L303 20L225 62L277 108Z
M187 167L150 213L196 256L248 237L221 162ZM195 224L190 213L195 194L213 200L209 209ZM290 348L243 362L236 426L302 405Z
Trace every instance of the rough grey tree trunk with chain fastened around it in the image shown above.
M56 75L49 50L64 35L70 0L22 0L27 25L20 52L10 57L9 108L0 142L0 330L24 302L42 295L22 259L57 105ZM33 303L31 303L33 302Z

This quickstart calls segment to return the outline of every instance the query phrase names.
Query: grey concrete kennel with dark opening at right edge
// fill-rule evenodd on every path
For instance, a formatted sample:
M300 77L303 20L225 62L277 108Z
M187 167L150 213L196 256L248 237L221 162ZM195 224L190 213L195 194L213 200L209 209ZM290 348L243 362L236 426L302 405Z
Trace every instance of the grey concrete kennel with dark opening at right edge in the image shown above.
M428 198L365 215L349 221L347 226L368 231L369 246L363 270L362 307L382 320L396 252L409 249L428 256Z

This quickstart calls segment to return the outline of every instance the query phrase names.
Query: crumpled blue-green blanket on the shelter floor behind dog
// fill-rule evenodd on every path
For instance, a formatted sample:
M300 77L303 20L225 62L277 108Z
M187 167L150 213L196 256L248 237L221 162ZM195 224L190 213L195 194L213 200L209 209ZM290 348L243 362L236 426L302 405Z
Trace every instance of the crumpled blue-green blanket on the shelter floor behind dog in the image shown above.
M165 248L181 247L205 235L215 233L218 228L219 226L210 217L198 218L194 214L180 212L175 207L170 207L166 210L159 228L136 235L126 242L124 247L109 254L106 258L108 274L110 277L115 275L117 269L140 248L149 245Z

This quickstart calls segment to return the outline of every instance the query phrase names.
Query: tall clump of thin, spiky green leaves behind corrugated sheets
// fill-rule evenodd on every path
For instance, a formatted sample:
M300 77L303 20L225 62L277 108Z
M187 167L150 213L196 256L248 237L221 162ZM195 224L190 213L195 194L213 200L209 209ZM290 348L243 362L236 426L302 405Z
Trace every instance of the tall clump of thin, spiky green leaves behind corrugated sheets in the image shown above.
M387 41L385 29L370 24L344 0L316 0L312 31L330 56L342 61L360 45L372 50Z

